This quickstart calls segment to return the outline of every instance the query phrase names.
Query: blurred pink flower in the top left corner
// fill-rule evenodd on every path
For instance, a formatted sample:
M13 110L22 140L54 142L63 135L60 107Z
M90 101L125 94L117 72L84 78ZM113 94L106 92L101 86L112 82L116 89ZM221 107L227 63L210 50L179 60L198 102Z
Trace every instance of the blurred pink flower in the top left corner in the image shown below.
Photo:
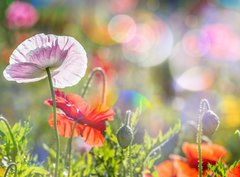
M6 11L9 28L31 28L38 21L36 9L27 2L13 2Z

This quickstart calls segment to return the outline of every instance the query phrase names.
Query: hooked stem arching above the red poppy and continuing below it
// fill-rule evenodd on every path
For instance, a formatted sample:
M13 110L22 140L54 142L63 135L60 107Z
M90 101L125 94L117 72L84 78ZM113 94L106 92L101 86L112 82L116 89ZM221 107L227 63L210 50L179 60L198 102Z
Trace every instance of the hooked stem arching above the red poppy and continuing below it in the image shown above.
M92 70L92 72L90 73L90 76L88 77L88 80L87 80L87 83L85 84L84 88L83 88L83 91L82 91L82 98L84 98L84 96L86 95L87 93L87 90L89 88L89 85L93 79L93 76L96 74L96 73L100 73L102 75L102 78L103 78L103 87L102 87L102 99L101 99L101 103L104 104L105 103L105 92L106 92L106 86L107 86L107 79L106 79L106 74L104 72L104 70L100 67L97 67L97 68L94 68ZM70 139L68 140L68 148L69 151L68 151L68 177L71 176L71 160L72 160L72 139L73 139L73 134L74 134L74 131L75 131L75 128L76 128L76 125L77 125L77 122L75 121L74 125L73 125L73 129L72 129L72 133L71 133L71 137Z

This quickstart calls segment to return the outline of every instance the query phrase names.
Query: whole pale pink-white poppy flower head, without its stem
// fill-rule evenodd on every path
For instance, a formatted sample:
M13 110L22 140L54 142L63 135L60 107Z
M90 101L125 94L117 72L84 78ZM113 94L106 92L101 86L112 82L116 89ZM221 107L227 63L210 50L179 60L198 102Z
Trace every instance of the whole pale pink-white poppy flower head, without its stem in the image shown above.
M10 56L3 71L9 81L35 82L51 71L53 86L70 87L85 75L87 56L82 45L69 36L37 34L22 42Z

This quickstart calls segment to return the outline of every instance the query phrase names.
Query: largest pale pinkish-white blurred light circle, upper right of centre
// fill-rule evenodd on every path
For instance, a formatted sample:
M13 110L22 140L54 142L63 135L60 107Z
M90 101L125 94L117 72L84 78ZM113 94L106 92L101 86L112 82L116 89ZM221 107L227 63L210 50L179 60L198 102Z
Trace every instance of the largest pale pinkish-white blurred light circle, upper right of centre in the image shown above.
M138 23L133 38L122 45L124 58L142 67L151 67L165 61L173 47L173 34L159 17L150 17Z

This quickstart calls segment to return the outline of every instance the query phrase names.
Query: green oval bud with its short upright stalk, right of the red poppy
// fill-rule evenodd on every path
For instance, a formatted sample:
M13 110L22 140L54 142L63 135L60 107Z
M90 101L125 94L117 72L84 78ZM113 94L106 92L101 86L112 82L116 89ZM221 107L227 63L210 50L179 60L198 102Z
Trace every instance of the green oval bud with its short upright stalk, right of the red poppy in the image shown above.
M126 112L125 123L117 131L118 143L122 148L127 148L133 140L133 131L130 127L131 114L131 111Z

